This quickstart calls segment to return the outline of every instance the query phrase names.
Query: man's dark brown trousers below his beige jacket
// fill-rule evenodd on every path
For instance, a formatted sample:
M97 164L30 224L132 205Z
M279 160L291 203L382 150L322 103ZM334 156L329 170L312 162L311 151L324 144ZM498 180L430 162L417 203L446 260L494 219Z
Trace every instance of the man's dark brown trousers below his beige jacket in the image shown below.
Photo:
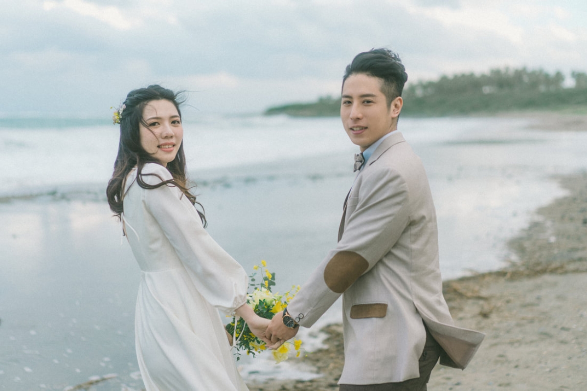
M426 391L430 372L440 357L441 347L426 328L426 344L420 356L420 377L399 383L380 383L366 385L341 384L339 391Z

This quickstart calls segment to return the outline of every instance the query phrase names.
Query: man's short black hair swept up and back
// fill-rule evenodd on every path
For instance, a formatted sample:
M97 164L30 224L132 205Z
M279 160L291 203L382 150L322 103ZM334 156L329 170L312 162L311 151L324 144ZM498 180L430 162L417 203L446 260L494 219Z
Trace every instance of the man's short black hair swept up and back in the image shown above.
M342 85L344 86L346 79L355 73L364 73L383 80L381 92L386 97L387 106L392 104L395 98L402 96L403 86L407 81L406 68L400 57L384 47L356 55L346 66Z

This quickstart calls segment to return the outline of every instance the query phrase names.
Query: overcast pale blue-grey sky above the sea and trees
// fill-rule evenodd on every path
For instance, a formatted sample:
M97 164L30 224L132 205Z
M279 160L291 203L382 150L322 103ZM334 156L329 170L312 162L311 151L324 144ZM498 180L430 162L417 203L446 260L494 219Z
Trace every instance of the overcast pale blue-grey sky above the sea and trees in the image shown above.
M587 70L585 0L0 0L0 115L107 115L134 88L201 113L340 93L386 46L408 83L495 67Z

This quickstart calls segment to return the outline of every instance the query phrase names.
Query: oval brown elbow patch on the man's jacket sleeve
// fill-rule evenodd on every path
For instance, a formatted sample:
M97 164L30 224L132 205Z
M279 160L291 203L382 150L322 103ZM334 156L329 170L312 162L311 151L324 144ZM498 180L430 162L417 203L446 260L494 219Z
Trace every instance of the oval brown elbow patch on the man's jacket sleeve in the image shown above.
M369 262L359 254L340 251L326 265L324 282L333 292L343 293L365 273L367 267Z

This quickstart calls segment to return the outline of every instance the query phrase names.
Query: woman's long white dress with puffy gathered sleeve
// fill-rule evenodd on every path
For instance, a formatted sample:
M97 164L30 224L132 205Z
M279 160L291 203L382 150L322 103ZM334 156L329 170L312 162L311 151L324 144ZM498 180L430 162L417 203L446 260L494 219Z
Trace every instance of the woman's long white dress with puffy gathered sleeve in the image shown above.
M135 338L147 391L247 390L218 314L246 302L247 273L178 188L143 189L136 171L127 177L122 217L141 268ZM142 174L151 185L172 178L153 163Z

